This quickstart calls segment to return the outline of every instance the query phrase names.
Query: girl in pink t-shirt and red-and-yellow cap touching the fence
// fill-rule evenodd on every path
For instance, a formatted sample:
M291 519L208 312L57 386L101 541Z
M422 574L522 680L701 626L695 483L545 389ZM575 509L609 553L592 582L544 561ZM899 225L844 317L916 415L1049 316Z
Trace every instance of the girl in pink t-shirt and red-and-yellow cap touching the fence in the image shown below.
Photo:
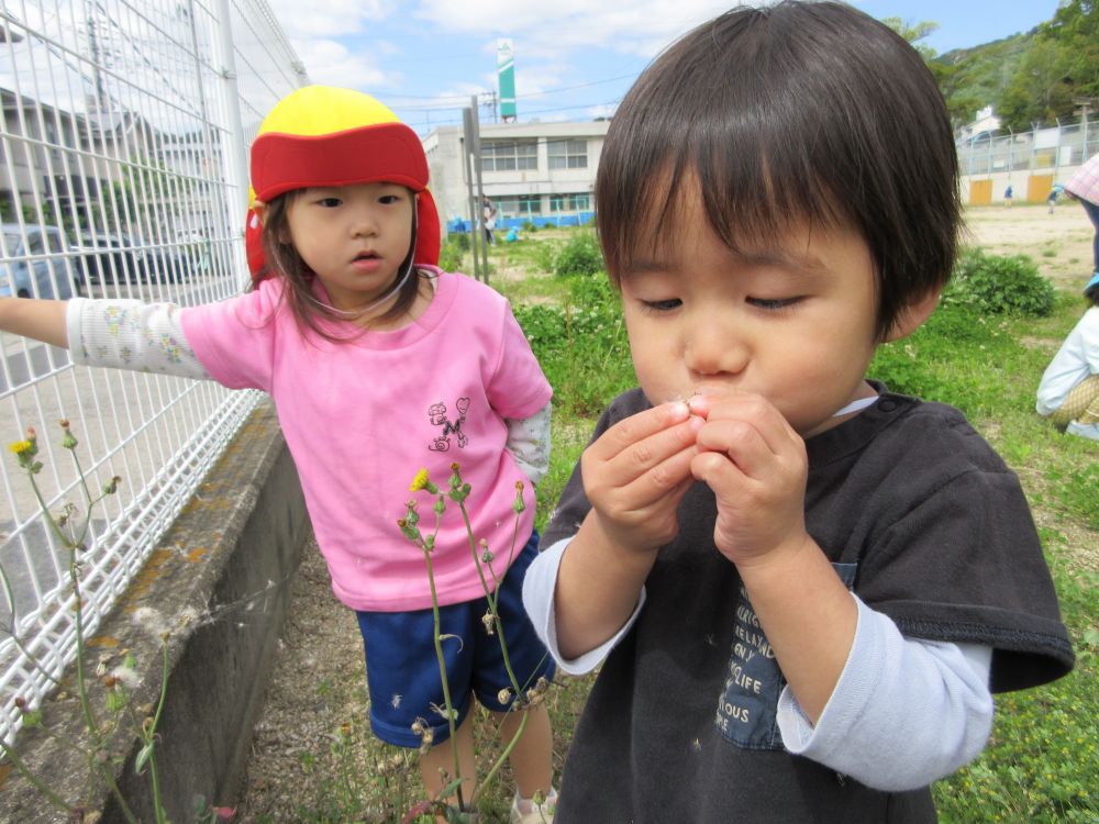
M270 393L332 588L358 614L371 727L421 748L424 788L436 798L454 769L446 719L433 709L444 701L432 599L423 556L397 522L421 467L441 485L460 467L474 535L493 553L496 576L508 572L499 613L513 671L520 684L552 678L520 597L536 552L532 483L548 463L552 391L507 301L434 266L426 158L392 112L355 91L299 89L264 121L251 165L251 292L191 309L9 299L0 329L67 345L78 363ZM526 509L512 553L520 482ZM501 700L510 681L482 624L486 599L453 506L433 565L442 632L454 636L444 650L468 799L471 697L499 715L504 741L520 713ZM550 820L551 755L540 704L511 755L512 822Z

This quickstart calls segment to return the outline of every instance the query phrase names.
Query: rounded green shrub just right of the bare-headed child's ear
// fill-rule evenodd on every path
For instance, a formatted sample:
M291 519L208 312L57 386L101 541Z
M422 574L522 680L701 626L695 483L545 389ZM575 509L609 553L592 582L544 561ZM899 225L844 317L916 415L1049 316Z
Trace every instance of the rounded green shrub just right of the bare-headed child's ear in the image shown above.
M978 248L962 253L943 292L946 305L1032 316L1050 314L1055 298L1053 285L1025 255L988 255Z

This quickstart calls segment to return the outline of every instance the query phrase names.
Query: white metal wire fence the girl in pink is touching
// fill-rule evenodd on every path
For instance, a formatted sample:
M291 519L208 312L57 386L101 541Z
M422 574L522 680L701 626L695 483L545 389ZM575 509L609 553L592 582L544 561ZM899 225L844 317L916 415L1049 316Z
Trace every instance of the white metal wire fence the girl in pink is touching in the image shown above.
M306 81L263 0L4 0L0 296L181 305L241 290L247 146ZM45 505L92 510L79 554L85 635L115 603L258 396L75 368L0 334L0 438L37 432ZM60 419L79 445L62 447ZM5 450L7 452L7 450ZM79 460L79 465L77 464ZM68 554L25 472L0 464L0 735L76 650Z

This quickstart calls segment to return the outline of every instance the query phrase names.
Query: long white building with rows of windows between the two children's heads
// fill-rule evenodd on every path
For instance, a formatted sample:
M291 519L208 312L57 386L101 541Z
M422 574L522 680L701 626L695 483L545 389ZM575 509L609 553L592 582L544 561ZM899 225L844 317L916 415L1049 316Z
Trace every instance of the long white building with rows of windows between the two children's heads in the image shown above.
M490 123L480 126L481 183L499 210L497 224L566 225L586 222L609 121ZM469 170L460 126L423 138L431 191L442 223L470 221ZM476 188L476 170L473 171Z

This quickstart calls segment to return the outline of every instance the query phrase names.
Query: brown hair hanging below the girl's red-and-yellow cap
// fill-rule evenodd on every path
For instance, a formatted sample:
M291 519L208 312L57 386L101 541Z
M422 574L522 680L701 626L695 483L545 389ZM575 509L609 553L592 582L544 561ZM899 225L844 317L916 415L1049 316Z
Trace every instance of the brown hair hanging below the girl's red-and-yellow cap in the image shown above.
M346 321L346 312L342 312L334 307L318 300L313 292L313 283L317 275L306 265L298 249L290 242L290 223L287 213L293 201L304 192L304 189L292 189L271 198L267 204L266 219L263 229L264 245L264 269L255 278L255 282L268 277L281 276L286 280L287 288L284 290L284 300L293 312L299 325L308 326L329 341L343 341L347 335L335 335L332 332L332 321ZM409 236L409 253L397 269L393 280L396 286L404 277L404 274L412 266L412 256L415 249L417 225L415 225L415 194L412 194L412 220L411 233ZM415 270L410 277L404 278L397 292L397 300L393 304L378 315L379 321L390 321L400 318L409 310L415 300L417 291L420 288L420 272ZM391 288L391 287L387 287ZM356 331L354 334L358 334Z

